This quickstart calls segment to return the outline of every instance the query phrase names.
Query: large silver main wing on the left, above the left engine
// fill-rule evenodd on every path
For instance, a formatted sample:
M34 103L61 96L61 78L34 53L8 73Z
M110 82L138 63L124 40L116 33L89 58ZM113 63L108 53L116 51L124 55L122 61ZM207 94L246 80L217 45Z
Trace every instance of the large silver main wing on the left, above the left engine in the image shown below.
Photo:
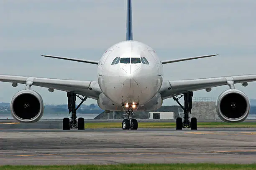
M15 75L0 75L0 82L13 82L17 84L27 84L32 82L32 86L40 86L61 90L66 92L74 92L78 95L87 96L95 100L98 99L101 90L97 81L83 81L83 80L65 80L65 79L51 79L41 77L24 77ZM14 86L15 87L15 86Z

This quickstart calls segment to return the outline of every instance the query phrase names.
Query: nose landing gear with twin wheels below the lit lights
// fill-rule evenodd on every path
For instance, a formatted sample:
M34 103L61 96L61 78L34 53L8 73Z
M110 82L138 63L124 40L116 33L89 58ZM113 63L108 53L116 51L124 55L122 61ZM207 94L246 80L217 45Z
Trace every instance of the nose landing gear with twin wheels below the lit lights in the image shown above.
M138 121L136 119L133 119L133 109L129 108L126 112L127 119L124 119L122 122L122 128L123 130L137 130L138 129Z

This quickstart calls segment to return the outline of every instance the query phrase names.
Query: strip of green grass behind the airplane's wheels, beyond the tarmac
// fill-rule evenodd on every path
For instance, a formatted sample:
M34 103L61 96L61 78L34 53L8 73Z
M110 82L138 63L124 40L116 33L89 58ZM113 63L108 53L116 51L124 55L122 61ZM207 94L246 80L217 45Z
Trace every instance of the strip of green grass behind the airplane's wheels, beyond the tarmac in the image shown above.
M85 123L85 128L121 128L122 122ZM175 128L175 122L138 122L138 128ZM197 122L198 128L256 128L256 122Z

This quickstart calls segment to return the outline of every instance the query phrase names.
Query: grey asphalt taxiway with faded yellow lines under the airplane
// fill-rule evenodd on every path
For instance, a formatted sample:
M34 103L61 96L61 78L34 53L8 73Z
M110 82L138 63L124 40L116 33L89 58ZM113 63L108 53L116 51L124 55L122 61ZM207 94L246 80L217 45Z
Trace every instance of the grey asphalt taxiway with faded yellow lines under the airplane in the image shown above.
M63 131L46 122L0 124L0 165L256 163L256 128Z

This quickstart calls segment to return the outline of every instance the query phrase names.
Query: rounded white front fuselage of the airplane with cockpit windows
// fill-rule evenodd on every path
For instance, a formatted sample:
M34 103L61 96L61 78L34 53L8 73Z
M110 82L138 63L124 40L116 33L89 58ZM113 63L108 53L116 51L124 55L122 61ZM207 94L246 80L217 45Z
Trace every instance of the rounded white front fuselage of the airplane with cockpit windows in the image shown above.
M161 107L158 91L163 82L162 70L159 57L148 45L138 41L113 45L98 65L97 79L103 93L98 105L105 110L123 110L122 104L133 102L139 105L138 110ZM146 108L147 103L151 107Z

